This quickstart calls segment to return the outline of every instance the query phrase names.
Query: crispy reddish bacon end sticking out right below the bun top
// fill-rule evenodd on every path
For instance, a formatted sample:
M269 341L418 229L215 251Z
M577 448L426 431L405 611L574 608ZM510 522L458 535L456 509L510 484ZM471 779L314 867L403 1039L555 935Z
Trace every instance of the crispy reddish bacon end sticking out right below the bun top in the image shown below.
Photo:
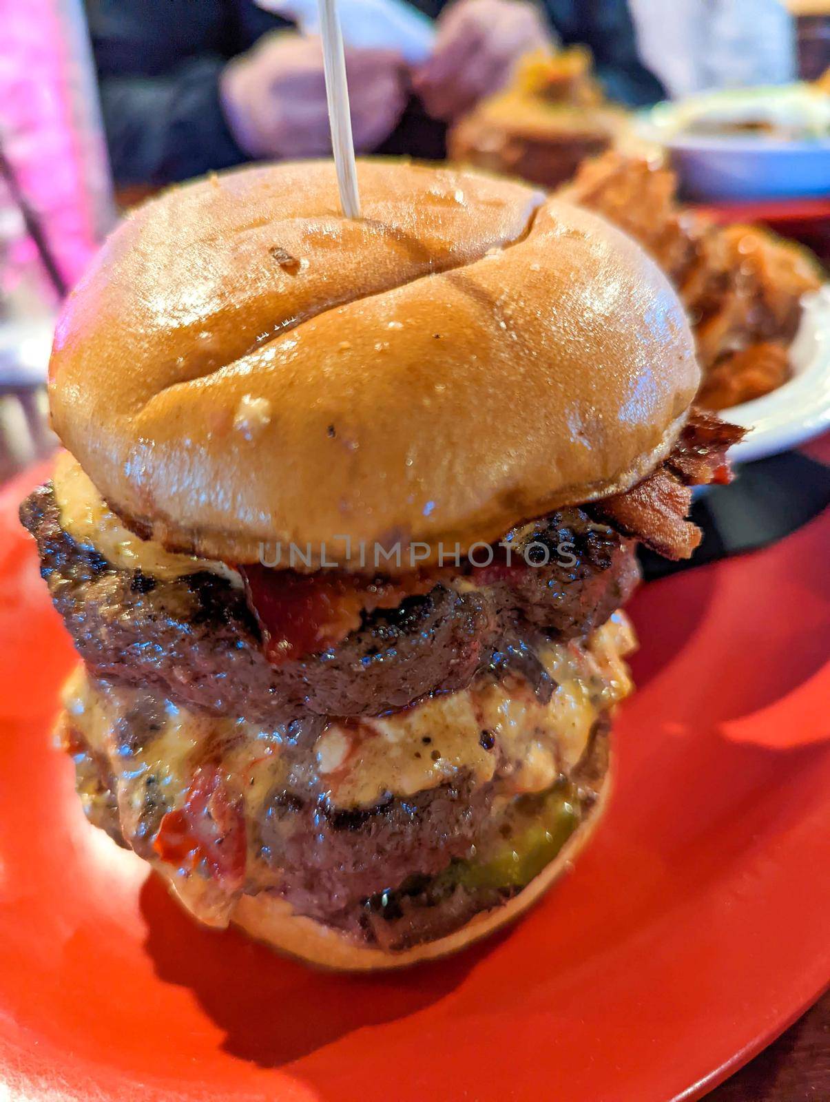
M688 559L702 532L687 520L692 486L731 480L726 451L745 430L692 409L662 466L625 494L595 501L590 511L667 559Z

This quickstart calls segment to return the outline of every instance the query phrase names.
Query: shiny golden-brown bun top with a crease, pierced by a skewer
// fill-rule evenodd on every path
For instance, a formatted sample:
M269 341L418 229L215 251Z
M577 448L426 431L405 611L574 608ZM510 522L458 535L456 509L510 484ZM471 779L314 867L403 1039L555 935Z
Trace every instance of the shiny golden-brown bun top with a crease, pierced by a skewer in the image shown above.
M236 562L335 537L434 560L626 489L671 447L699 371L634 241L507 181L358 176L360 220L330 162L170 191L71 295L53 423L142 534Z

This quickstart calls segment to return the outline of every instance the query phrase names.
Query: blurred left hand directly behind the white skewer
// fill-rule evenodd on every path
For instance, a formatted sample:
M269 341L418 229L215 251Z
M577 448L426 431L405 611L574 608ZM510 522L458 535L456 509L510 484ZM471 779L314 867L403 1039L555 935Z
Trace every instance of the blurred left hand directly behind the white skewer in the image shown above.
M346 50L355 148L368 152L397 126L408 84L391 50ZM227 64L220 79L225 117L254 158L324 156L332 151L319 39L276 33Z

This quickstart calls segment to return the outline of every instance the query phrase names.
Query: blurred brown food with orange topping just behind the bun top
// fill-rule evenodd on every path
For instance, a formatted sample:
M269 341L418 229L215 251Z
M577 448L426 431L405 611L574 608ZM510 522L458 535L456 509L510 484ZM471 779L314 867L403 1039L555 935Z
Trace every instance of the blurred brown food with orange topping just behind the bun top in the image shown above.
M627 129L627 115L605 102L589 50L541 51L519 64L507 90L484 100L449 136L453 161L556 187L585 158Z

